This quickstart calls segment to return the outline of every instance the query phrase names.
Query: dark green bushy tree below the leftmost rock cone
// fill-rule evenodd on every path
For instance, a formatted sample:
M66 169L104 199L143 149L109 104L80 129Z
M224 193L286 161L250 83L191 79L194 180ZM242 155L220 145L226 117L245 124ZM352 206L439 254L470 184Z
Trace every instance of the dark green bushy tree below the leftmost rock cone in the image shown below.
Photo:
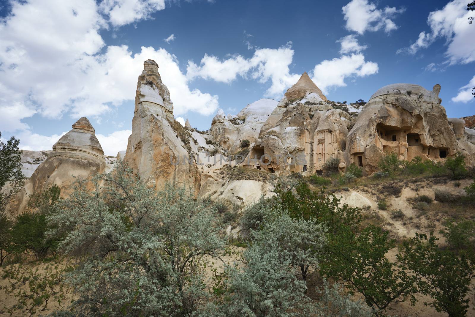
M58 237L47 237L47 216L54 212L60 199L60 190L53 185L44 192L33 194L28 210L16 217L11 236L15 252L31 251L36 259L44 259L48 252L56 252Z

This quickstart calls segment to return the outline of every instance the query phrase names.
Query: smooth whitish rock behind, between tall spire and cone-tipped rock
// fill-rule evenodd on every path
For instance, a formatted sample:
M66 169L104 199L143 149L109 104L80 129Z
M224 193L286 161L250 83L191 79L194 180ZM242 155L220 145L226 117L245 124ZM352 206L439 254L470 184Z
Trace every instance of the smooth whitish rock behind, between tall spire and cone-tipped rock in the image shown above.
M274 99L260 99L247 105L237 116L225 115L219 109L211 124L211 135L216 143L235 154L240 150L242 140L250 143L257 140L262 125L276 106Z

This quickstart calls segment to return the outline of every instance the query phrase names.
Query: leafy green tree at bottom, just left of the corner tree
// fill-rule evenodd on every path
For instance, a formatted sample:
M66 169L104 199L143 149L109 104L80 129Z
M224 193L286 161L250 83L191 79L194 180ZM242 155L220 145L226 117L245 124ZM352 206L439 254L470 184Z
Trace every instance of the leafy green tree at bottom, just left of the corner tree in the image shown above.
M346 287L360 292L366 303L377 310L376 316L385 316L382 311L390 303L406 298L415 303L420 279L407 266L387 258L395 246L388 234L372 225L360 234L344 231L320 262L323 274L341 279Z

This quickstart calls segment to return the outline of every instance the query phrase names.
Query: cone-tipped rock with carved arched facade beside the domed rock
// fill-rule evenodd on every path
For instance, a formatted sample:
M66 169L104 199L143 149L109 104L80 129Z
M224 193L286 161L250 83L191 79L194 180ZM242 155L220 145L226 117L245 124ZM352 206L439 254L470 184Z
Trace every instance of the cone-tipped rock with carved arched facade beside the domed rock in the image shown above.
M342 156L349 126L350 115L333 109L304 73L267 118L243 165L272 173L321 171L326 160Z

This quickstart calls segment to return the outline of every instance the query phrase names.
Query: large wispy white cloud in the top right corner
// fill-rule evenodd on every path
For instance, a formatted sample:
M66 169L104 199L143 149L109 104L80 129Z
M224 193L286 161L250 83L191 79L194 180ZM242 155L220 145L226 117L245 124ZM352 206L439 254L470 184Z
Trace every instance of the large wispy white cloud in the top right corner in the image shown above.
M466 6L467 1L454 0L441 10L430 12L427 21L430 32L420 32L416 42L408 48L400 48L398 53L415 54L421 48L428 48L438 38L445 38L445 55L450 64L475 61L473 25L467 20L471 12L466 10Z

